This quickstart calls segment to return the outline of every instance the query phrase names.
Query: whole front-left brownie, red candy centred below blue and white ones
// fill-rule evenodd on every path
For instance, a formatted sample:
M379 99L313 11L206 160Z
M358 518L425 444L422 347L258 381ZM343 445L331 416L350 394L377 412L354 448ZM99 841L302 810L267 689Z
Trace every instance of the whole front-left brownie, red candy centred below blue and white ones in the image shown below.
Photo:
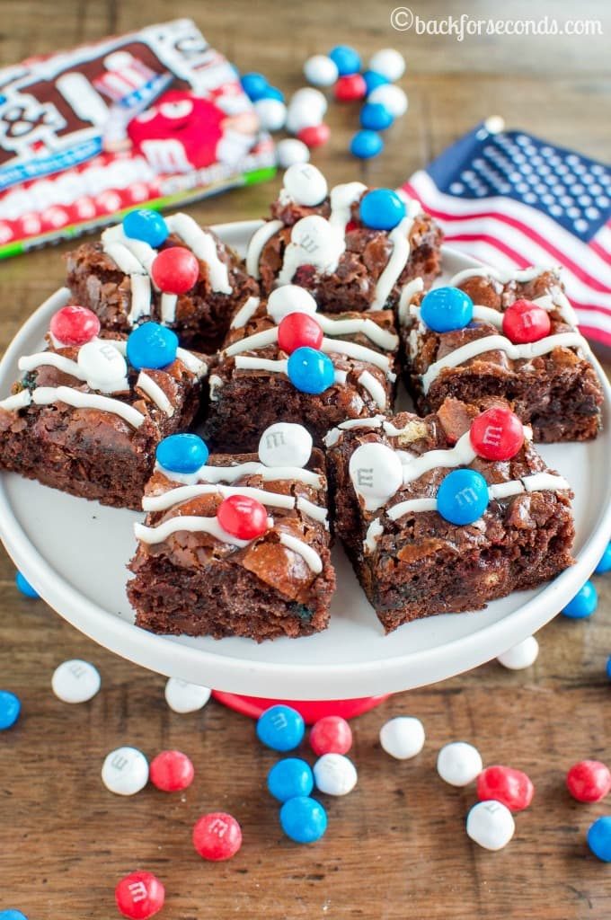
M168 445L169 460L165 446L146 486L146 521L135 525L127 592L136 624L258 642L327 627L327 480L307 431L280 423L264 432L259 454L213 454L200 466L184 462L191 444Z

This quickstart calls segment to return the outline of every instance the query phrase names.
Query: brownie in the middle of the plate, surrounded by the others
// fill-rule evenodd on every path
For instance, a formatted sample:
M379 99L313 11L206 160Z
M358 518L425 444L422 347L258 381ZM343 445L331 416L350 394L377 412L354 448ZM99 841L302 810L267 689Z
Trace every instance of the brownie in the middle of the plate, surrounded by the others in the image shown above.
M205 433L215 449L256 450L261 432L277 420L305 425L320 446L340 421L392 408L392 311L316 311L310 293L287 284L254 315L237 314L210 377Z

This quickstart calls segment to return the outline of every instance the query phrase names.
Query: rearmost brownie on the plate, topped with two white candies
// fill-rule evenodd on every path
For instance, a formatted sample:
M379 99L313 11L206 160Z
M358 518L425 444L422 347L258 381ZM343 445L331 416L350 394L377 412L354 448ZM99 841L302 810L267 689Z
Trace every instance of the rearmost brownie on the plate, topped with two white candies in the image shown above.
M316 167L296 164L284 175L271 220L248 246L247 269L263 293L294 283L314 294L326 313L384 310L398 304L403 285L413 278L432 280L440 271L442 233L418 201L398 198L402 215L390 229L385 221L363 223L362 182L328 192Z

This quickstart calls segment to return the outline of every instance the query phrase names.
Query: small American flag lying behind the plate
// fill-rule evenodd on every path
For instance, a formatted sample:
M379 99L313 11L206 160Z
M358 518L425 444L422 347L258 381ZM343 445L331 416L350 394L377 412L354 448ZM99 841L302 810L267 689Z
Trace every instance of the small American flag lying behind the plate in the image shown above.
M490 118L403 188L475 259L562 266L583 335L611 346L609 167Z

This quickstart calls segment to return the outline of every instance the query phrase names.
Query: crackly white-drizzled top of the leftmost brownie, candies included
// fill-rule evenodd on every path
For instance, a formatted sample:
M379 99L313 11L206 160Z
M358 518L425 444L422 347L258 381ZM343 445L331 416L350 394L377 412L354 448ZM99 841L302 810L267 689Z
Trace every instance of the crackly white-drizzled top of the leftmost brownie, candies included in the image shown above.
M27 424L32 414L58 412L86 423L114 443L141 440L179 410L207 374L202 356L178 347L156 323L129 337L98 338L98 317L82 306L63 306L52 316L42 351L23 355L23 376L0 401L3 430Z

